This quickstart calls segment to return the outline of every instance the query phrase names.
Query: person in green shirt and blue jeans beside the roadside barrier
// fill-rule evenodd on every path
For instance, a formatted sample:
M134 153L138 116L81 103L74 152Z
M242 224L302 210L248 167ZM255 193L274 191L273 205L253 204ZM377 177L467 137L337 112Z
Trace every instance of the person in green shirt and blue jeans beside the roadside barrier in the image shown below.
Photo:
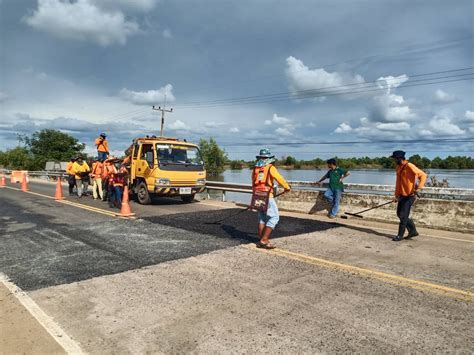
M344 191L344 184L342 181L348 177L351 173L338 167L335 158L328 159L328 172L316 182L317 185L329 179L329 187L324 192L324 198L331 204L331 208L328 212L329 218L336 218L337 212L339 211L339 204L341 202L342 192Z

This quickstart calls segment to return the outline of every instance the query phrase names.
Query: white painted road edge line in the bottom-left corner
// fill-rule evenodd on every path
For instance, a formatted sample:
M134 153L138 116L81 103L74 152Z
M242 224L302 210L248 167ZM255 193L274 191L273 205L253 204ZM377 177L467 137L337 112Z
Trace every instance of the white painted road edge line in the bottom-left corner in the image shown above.
M15 285L10 279L0 272L0 282L5 285L11 294L21 303L23 307L38 321L38 323L51 335L51 337L68 354L84 354L81 347L51 318L28 294Z

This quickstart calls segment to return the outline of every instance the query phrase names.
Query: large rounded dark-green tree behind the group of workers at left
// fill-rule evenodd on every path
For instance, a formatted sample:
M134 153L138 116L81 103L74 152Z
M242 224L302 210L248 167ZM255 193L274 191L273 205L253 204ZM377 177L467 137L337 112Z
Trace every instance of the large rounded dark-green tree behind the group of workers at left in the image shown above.
M76 138L53 129L43 129L31 137L22 136L20 139L32 155L33 170L44 169L49 160L68 161L84 150L84 144Z

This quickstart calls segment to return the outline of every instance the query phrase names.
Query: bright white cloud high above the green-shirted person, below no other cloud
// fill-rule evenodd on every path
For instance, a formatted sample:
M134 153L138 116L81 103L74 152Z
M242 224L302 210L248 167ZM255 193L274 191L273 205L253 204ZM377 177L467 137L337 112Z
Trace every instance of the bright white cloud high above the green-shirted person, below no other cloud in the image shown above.
M364 84L365 80L360 75L351 75L339 72L327 72L323 68L309 69L304 63L295 57L286 59L286 77L289 81L289 89L296 98L304 98L305 91L333 88L329 90L356 89L358 85ZM350 85L350 86L346 86ZM337 87L337 88L335 88ZM327 90L324 90L327 92ZM307 92L306 92L307 93ZM317 95L317 91L310 92ZM324 96L324 95L323 95Z

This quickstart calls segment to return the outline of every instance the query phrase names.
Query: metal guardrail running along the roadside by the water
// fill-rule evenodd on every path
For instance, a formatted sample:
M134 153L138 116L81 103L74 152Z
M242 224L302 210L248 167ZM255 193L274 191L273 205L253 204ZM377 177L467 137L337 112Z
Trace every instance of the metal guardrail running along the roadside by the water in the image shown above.
M0 172L9 175L11 170L0 169ZM67 174L64 171L29 171L28 176L38 178L57 178L66 179ZM289 181L293 189L296 190L318 190L323 191L328 187L327 183L317 185L312 181ZM222 200L226 200L226 192L252 193L250 184L240 184L232 182L208 181L206 183L207 195L210 198L211 191L222 191ZM346 192L372 194L372 195L392 195L395 189L393 185L377 185L377 184L344 184ZM443 199L443 200L474 200L474 189L460 189L447 187L425 187L421 193L423 198Z

